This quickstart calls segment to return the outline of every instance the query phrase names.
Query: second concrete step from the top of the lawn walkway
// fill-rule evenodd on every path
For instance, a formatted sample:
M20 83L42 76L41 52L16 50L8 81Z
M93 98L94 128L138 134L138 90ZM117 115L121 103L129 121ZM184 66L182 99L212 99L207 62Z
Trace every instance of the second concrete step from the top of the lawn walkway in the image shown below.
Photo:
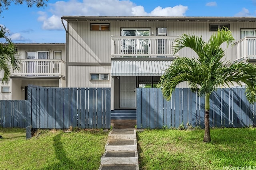
M135 151L137 150L136 139L109 139L105 145L106 151Z

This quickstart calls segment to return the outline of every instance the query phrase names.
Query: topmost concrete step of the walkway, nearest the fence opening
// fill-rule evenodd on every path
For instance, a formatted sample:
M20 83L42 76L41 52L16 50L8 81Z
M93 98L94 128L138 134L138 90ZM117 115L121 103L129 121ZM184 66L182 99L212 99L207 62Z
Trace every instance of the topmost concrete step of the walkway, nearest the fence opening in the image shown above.
M113 129L108 134L108 139L136 139L135 129Z

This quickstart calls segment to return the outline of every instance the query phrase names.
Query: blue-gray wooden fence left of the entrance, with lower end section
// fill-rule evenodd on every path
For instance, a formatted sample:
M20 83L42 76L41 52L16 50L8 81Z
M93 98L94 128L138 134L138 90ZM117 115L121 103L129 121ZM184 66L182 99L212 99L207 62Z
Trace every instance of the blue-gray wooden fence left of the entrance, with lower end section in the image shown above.
M2 127L18 121L35 129L110 128L110 88L29 86L28 100L13 102L1 101Z

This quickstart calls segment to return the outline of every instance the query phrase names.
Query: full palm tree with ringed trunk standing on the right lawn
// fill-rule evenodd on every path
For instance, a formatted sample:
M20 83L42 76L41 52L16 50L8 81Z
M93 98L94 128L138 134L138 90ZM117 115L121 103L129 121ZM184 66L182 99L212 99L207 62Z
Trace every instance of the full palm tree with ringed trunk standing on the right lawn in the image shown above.
M172 92L180 82L188 82L192 92L205 96L204 142L210 142L210 94L219 86L228 86L234 82L246 86L246 98L250 103L256 102L256 66L250 63L224 64L222 43L232 45L234 38L228 29L218 30L208 43L202 37L183 34L176 40L174 53L188 47L196 52L198 58L178 57L174 59L165 74L160 78L158 87L162 88L164 97L170 100Z

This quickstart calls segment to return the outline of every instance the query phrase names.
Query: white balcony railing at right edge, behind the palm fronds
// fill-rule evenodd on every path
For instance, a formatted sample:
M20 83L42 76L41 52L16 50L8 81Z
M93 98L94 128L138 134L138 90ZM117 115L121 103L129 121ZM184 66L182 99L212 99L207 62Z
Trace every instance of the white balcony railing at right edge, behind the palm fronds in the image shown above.
M256 59L256 37L244 37L234 44L234 61Z

